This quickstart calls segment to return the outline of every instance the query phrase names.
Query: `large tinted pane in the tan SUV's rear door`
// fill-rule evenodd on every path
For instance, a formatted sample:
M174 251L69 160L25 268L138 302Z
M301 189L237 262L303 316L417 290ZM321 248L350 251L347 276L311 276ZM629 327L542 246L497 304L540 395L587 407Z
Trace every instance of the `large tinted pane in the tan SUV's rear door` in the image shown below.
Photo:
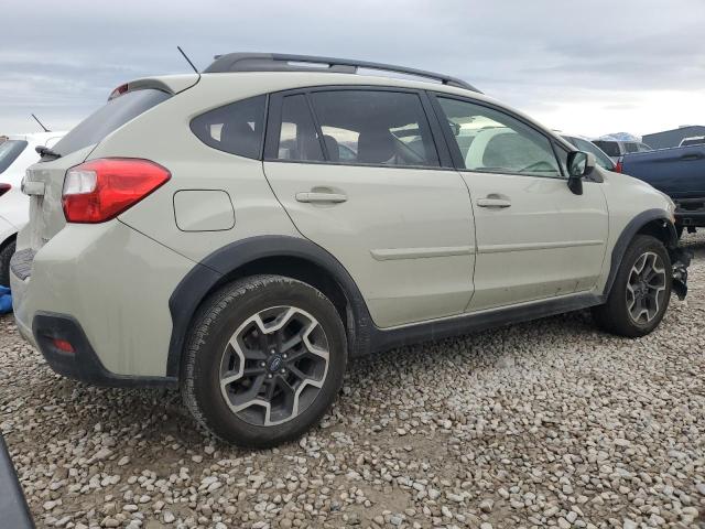
M440 165L417 95L335 90L314 93L311 97L330 161Z

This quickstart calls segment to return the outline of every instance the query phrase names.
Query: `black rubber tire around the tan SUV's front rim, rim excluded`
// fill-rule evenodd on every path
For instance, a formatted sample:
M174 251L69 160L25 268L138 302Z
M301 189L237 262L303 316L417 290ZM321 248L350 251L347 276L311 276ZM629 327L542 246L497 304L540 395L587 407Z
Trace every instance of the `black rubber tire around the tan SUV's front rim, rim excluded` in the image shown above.
M647 252L657 253L665 269L664 295L662 303L659 304L655 315L648 322L636 322L628 310L627 283L637 260ZM671 259L663 242L659 239L648 236L638 235L629 245L621 260L619 270L615 278L607 303L593 307L593 317L597 325L603 330L618 336L636 338L651 333L661 323L665 311L669 307L671 299Z

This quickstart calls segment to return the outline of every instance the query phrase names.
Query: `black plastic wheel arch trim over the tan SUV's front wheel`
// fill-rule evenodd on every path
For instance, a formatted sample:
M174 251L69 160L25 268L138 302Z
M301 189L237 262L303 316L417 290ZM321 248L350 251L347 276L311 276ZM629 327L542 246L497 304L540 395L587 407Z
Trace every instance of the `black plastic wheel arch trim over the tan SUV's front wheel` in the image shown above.
M637 215L627 224L617 238L617 242L615 244L615 248L611 253L609 274L603 292L604 298L609 295L617 277L617 271L619 270L625 257L625 252L637 235L650 235L655 237L663 242L669 251L674 249L679 244L675 226L668 218L668 215L663 209L647 209L646 212Z

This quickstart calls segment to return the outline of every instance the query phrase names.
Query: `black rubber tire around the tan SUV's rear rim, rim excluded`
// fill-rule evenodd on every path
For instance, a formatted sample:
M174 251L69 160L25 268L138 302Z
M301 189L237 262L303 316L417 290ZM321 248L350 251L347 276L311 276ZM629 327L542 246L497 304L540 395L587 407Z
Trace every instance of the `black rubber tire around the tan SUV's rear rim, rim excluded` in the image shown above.
M236 330L272 306L297 307L315 317L325 333L329 358L322 387L303 411L279 424L253 424L226 402L220 388L221 361ZM340 390L346 365L346 332L323 293L290 278L253 276L224 287L198 310L184 352L181 389L186 407L213 434L240 446L264 449L301 436L321 420Z

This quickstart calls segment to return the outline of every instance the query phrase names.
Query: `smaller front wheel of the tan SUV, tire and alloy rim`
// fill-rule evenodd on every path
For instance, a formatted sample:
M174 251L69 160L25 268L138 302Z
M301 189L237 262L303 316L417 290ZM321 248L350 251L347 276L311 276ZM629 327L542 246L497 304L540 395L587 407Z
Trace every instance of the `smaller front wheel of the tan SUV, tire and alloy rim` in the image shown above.
M634 237L621 261L607 303L593 309L598 326L619 336L653 331L671 299L671 259L663 244L648 235Z

